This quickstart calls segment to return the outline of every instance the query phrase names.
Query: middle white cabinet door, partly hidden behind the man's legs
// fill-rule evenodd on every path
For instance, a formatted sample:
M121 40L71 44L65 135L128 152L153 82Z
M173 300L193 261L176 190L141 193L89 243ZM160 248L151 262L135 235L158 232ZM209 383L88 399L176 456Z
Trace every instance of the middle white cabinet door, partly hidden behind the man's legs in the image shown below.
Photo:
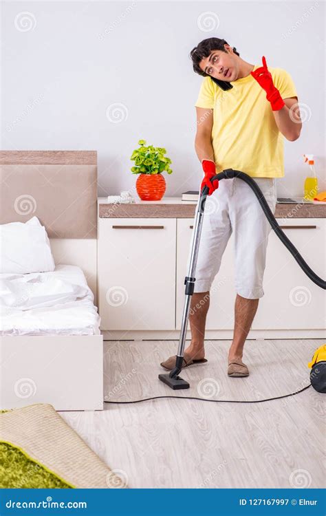
M184 310L184 278L188 274L186 266L193 234L193 223L194 219L177 219L177 330L181 329L182 312ZM233 329L235 311L234 277L233 235L231 235L224 251L221 267L210 288L210 308L206 318L206 330Z

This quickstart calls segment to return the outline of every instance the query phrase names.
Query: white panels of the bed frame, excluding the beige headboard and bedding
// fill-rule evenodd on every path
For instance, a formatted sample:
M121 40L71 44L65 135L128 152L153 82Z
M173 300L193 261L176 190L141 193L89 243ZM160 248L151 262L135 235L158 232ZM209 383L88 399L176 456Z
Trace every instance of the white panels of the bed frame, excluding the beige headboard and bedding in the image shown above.
M51 239L56 264L79 266L97 305L96 239ZM50 403L103 409L103 337L6 336L0 340L0 409Z

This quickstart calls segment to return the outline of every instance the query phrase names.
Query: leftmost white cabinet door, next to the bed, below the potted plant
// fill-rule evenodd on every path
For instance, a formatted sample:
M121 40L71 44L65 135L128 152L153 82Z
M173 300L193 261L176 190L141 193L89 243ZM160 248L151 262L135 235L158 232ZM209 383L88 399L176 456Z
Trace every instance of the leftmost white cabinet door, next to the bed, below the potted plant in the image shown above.
M101 330L174 330L175 240L175 219L99 219Z

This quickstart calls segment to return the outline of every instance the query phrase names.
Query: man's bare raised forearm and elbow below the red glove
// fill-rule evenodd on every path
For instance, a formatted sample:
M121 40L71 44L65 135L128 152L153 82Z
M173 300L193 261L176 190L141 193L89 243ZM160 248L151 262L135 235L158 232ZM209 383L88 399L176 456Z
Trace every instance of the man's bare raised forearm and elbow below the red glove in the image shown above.
M290 142L298 140L301 133L301 118L296 97L284 98L285 106L279 111L273 111L275 122L279 131Z

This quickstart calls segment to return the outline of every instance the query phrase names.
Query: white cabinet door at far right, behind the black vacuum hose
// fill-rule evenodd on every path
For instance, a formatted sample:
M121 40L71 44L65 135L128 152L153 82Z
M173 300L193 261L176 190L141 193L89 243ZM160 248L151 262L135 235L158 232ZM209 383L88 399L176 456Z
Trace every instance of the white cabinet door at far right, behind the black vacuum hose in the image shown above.
M325 279L325 219L278 219L285 235L316 274ZM263 281L253 330L325 328L325 290L298 266L274 231L268 240Z

